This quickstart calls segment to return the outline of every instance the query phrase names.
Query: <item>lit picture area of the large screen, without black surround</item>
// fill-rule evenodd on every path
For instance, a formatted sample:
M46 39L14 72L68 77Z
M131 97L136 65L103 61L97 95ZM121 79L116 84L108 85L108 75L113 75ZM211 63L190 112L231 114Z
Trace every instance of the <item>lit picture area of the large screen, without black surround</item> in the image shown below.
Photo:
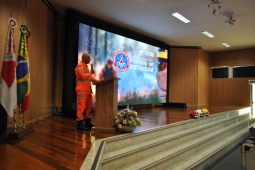
M167 50L83 23L78 44L78 62L89 53L98 80L120 78L119 105L166 102Z

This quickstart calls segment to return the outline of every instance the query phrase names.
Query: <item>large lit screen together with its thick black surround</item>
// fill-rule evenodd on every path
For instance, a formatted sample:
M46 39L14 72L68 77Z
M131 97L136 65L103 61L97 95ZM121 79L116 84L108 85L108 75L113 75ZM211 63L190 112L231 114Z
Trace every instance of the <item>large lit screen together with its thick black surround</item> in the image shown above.
M121 79L119 105L167 102L167 49L170 46L157 39L88 14L67 10L62 113L68 116L65 113L69 114L70 110L76 109L74 67L85 52L91 55L97 79L105 78L105 75L100 77L100 73L108 60L112 62L116 76Z

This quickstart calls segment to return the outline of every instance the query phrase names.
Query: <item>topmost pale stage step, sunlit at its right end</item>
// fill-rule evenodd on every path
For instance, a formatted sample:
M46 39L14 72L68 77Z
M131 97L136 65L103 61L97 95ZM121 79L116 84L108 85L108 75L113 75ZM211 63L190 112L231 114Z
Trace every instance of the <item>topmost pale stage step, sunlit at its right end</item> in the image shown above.
M233 117L238 117L243 114L250 113L249 109L234 110L229 112L222 112L209 117L191 119L182 122L177 122L173 124L164 125L151 130L146 130L140 133L131 133L123 136L114 137L112 139L106 140L107 145L104 148L104 153L112 152L114 150L119 150L125 146L132 146L136 144L141 144L141 142L149 141L155 138L164 137L169 134L181 134L182 131L194 130L203 127L207 124L217 123L219 121L225 121ZM125 140L128 138L128 140ZM125 142L125 145L122 143Z

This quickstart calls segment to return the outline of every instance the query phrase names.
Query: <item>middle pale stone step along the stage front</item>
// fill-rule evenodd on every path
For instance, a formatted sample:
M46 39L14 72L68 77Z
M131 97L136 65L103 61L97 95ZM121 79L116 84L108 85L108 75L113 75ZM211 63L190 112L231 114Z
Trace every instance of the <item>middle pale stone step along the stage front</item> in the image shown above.
M198 128L187 129L174 134L169 134L156 139L143 142L137 146L129 146L119 149L115 152L105 153L102 161L102 166L105 169L110 169L112 165L121 166L123 164L132 164L143 159L158 161L162 159L163 155L172 155L176 152L185 150L186 148L193 148L194 144L199 143L201 140L209 139L211 136L217 136L223 129L228 131L236 124L246 123L249 120L249 114L231 118L227 121L212 122L209 125L199 126ZM181 133L181 134L180 134ZM122 142L125 145L125 142ZM152 156L155 155L155 156ZM160 155L160 157L158 156ZM123 162L122 162L123 160ZM135 165L136 166L136 165ZM127 167L127 169L130 167ZM136 167L132 169L140 169Z

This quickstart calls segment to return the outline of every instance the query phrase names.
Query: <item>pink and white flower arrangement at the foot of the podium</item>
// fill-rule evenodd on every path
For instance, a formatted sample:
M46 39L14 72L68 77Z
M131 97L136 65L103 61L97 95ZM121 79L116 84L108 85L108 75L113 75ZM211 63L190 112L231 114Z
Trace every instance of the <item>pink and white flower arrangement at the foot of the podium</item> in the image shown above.
M135 110L125 108L115 116L113 126L119 129L122 129L123 126L129 126L135 129L137 126L142 126L142 122L138 118Z

